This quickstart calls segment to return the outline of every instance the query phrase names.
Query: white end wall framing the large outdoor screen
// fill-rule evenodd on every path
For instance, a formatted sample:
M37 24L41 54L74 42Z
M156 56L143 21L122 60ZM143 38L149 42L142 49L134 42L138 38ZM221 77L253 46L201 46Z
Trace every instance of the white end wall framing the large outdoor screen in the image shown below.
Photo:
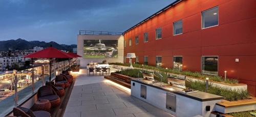
M105 58L78 58L78 64L86 67L90 62L102 63L103 60L109 63L123 63L124 38L122 35L78 35L77 36L77 54L83 56L83 40L118 40L118 57Z

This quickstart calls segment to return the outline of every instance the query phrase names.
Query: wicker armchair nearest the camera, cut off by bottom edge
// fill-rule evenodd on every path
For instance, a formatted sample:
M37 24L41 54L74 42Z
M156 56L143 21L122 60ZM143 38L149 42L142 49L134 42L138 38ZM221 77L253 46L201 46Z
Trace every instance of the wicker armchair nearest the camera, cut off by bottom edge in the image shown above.
M24 107L14 107L13 108L13 115L14 116L22 116L22 117L51 117L51 114L47 111L32 111L28 108Z

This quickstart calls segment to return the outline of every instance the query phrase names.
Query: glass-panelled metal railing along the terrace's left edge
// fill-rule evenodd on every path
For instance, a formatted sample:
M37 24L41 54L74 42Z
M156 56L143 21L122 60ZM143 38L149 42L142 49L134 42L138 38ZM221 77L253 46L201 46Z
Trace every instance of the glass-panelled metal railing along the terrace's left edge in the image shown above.
M71 65L76 60L71 60ZM61 71L67 70L70 66L69 61L62 61L52 64L51 81L59 75ZM13 107L18 106L32 97L39 87L49 81L50 66L42 65L26 70L13 70L13 72L0 75L2 90L0 92L0 116L5 116L12 111ZM3 87L3 85L6 85Z

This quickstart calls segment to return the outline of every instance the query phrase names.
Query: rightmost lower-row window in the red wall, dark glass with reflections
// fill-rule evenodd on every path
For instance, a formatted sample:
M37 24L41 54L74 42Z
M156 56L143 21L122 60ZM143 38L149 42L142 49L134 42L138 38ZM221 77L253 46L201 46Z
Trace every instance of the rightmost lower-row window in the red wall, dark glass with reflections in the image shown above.
M218 56L202 56L202 73L218 75Z

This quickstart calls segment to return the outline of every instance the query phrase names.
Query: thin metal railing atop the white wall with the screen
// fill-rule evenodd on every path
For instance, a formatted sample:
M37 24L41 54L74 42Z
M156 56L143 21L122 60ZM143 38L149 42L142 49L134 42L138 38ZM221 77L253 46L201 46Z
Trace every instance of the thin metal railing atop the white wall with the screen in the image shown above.
M79 35L123 35L119 32L102 32L102 31L79 31Z

